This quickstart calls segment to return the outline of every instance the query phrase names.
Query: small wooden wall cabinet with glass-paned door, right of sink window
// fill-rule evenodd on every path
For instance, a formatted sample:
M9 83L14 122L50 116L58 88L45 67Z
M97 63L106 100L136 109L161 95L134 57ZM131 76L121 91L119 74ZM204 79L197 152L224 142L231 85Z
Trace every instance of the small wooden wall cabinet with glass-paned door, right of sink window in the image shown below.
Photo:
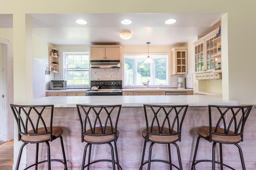
M188 48L172 48L172 74L188 74Z

